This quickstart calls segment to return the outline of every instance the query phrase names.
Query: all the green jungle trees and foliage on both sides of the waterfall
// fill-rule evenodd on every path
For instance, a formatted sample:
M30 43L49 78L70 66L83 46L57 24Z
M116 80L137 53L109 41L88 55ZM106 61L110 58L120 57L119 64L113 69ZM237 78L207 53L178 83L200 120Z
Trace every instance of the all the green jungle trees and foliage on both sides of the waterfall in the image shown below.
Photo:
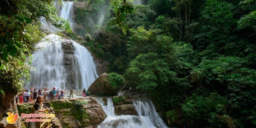
M11 1L0 4L1 93L29 78L29 51L42 37L37 17L70 31L51 0ZM256 0L124 1L84 1L107 6L83 44L110 62L109 72L149 92L175 125L256 127Z

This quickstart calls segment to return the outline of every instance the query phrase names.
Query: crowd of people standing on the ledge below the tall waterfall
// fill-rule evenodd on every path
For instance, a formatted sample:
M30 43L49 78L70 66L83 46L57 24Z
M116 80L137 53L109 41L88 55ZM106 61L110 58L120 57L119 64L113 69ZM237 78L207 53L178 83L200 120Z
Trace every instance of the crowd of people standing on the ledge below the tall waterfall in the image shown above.
M31 87L30 89L24 88L21 92L17 93L15 98L16 98L16 103L29 103L29 102L36 102L38 96L43 97L43 101L47 100L56 100L56 99L64 99L64 92L66 89L56 89L54 86L53 88L34 88ZM76 90L77 91L77 90ZM86 97L86 90L85 88L82 91L83 97ZM70 95L69 98L72 95L73 98L74 91L72 88L70 88Z

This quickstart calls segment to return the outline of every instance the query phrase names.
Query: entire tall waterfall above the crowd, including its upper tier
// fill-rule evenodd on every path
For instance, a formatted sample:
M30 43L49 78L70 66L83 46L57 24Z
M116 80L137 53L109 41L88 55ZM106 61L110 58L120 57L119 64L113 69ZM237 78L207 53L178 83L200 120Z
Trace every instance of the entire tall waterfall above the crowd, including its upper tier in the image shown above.
M58 4L58 0L55 1L55 7L58 10L58 15L70 22L71 28L73 27L72 19L72 7L73 2L62 1L62 6ZM50 32L60 31L46 21L44 17L41 17L39 21L42 23L43 28ZM42 40L35 47L39 48L37 52L32 53L33 61L32 66L37 70L31 71L31 81L28 82L26 88L34 86L36 88L41 87L53 87L65 88L74 86L75 89L88 89L91 83L98 77L96 66L93 62L93 58L88 50L70 40L75 51L70 54L70 65L72 65L72 73L67 74L64 66L64 52L62 49L63 39L60 36L50 34L46 37L47 40ZM73 75L71 81L67 82L67 77ZM72 84L72 85L70 85ZM68 88L69 89L69 88Z

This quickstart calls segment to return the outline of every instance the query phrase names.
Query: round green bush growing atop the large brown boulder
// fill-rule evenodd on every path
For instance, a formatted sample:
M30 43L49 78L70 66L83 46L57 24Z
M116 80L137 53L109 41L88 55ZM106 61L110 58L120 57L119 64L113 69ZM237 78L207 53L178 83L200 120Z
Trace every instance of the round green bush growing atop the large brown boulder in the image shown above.
M118 89L119 87L122 87L125 82L122 75L114 72L108 74L107 81L110 83L112 89Z

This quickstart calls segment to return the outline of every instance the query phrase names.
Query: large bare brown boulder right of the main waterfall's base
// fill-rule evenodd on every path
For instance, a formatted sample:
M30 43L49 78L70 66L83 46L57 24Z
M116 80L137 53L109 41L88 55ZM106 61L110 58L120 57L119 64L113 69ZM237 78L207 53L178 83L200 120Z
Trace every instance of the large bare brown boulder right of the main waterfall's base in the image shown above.
M93 95L116 95L118 89L112 89L110 83L107 81L108 74L101 74L88 88L90 94Z

